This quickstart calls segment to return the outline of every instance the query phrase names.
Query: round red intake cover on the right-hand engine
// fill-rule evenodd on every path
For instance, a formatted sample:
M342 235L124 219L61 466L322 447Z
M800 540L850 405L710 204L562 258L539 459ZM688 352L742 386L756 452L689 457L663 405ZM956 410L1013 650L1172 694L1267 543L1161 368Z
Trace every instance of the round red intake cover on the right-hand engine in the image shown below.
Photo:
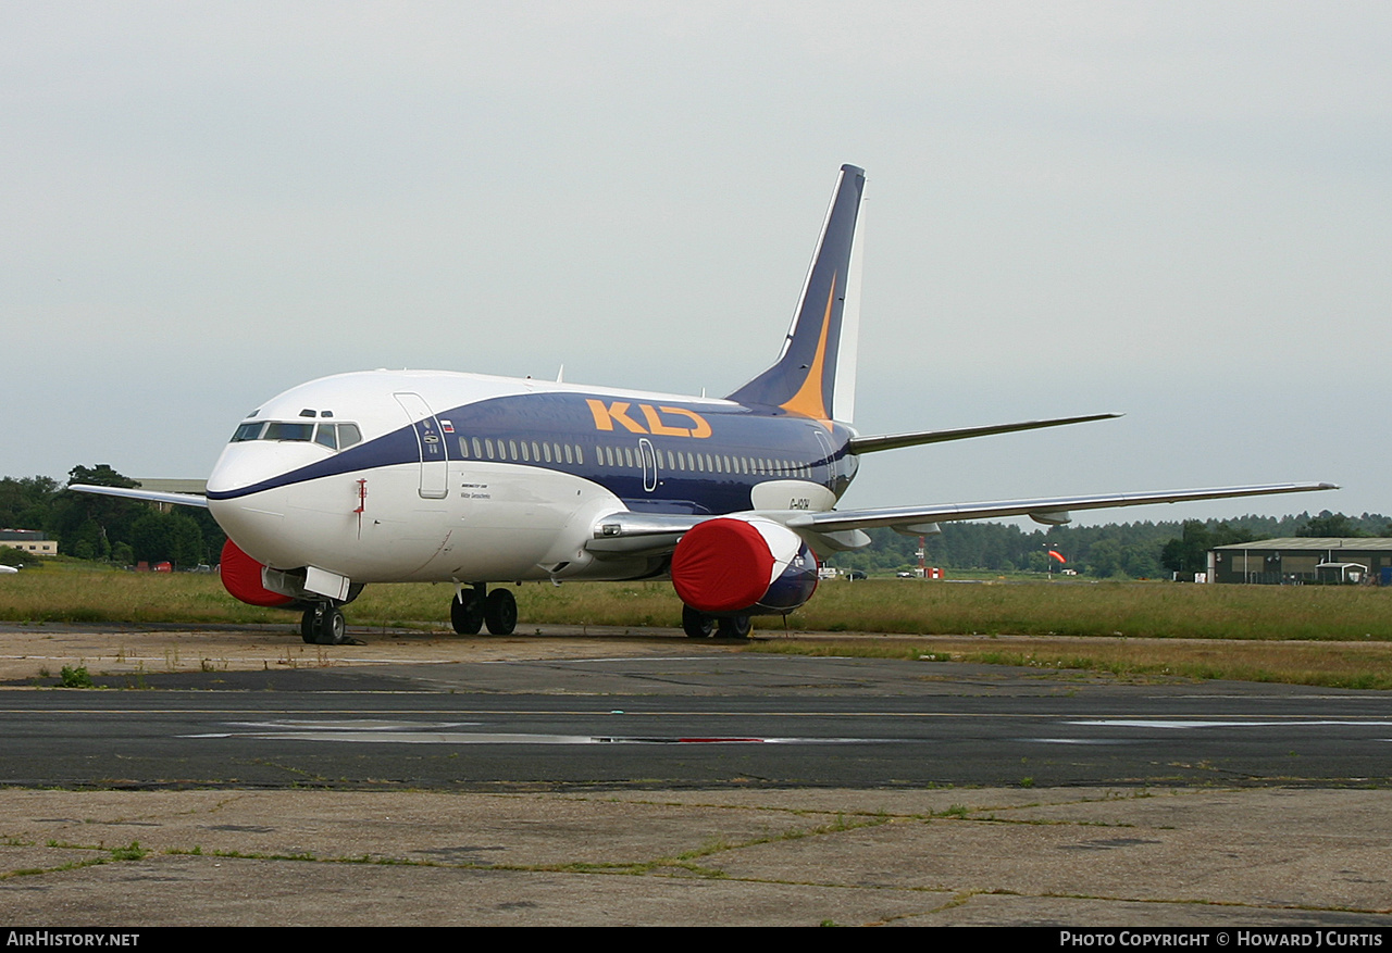
M774 575L774 554L750 523L697 523L672 552L672 588L702 612L738 612L759 602Z

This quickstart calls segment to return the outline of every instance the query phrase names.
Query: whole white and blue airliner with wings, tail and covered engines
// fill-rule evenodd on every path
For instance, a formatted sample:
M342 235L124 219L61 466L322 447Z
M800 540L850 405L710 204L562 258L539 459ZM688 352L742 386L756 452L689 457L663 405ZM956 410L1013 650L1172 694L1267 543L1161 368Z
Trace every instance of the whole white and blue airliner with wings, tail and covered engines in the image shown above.
M817 558L889 526L1332 490L1288 483L980 504L835 509L874 451L1116 415L862 437L855 395L864 173L844 166L777 362L724 399L448 371L310 381L246 416L207 495L74 486L207 506L223 583L344 640L367 583L452 582L455 632L505 634L521 580L670 579L692 637L749 633L817 584Z

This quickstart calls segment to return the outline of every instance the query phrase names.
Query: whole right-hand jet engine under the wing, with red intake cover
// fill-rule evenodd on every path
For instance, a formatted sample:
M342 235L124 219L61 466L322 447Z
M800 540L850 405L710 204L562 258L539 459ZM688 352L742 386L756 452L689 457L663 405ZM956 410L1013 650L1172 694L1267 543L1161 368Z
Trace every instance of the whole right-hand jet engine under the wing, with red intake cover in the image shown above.
M817 558L773 520L725 516L697 523L672 552L672 587L706 615L786 615L817 588Z

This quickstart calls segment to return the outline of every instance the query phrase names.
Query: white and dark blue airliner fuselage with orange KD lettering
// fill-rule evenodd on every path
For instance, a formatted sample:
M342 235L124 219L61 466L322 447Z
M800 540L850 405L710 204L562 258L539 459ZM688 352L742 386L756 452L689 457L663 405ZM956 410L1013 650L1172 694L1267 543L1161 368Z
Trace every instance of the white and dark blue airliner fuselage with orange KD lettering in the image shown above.
M557 419L555 408L571 419ZM256 561L315 566L355 583L631 579L651 575L650 561L596 558L586 550L596 522L629 509L635 497L654 506L718 509L700 492L678 490L683 476L690 488L710 484L727 497L743 480L763 484L756 498L782 492L803 508L832 505L837 494L803 466L818 455L816 424L802 422L806 440L784 448L777 467L771 452L749 447L749 437L748 452L731 462L732 445L718 435L724 427L713 435L703 424L738 423L741 415L748 417L748 409L729 401L533 380L340 374L285 391L248 417L248 433L260 422L278 429L227 445L207 481L209 509ZM791 433L792 422L781 423L780 433ZM333 437L316 442L324 430L347 442L349 424L356 427L352 445L329 445ZM704 451L717 447L724 454L711 459ZM761 476L742 473L750 462ZM628 499L612 486L629 487ZM749 498L746 490L745 508ZM777 505L786 504L780 498Z

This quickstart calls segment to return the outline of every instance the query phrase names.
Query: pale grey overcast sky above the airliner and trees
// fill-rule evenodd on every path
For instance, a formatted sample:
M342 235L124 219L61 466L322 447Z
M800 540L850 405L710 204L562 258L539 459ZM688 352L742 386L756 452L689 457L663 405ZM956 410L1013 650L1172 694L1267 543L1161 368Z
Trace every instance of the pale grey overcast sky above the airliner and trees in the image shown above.
M0 474L206 476L305 380L727 394L867 171L845 505L1392 512L1385 3L0 0Z

